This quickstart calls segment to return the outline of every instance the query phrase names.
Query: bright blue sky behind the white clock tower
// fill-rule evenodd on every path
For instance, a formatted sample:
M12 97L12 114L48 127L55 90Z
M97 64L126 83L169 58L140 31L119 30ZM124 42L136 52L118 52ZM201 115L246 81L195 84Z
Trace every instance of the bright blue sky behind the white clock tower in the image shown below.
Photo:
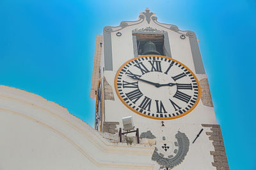
M0 1L0 84L64 106L90 125L95 38L106 25L137 20L196 32L230 169L256 169L256 2Z

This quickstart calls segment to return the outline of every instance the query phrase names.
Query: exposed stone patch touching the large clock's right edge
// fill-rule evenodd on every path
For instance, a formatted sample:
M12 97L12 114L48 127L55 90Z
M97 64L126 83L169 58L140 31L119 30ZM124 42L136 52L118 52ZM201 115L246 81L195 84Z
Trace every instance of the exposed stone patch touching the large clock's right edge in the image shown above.
M201 90L202 90L202 93L201 93L202 103L205 106L213 107L208 79L203 78L202 80L199 81L199 83L200 83Z

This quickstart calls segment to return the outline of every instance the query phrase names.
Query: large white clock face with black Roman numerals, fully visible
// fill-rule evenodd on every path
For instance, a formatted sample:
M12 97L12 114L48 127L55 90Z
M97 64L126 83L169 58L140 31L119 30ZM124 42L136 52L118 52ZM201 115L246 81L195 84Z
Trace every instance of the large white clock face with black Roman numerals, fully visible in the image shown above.
M201 94L188 67L161 55L143 55L125 62L116 73L115 90L129 109L160 120L188 114Z

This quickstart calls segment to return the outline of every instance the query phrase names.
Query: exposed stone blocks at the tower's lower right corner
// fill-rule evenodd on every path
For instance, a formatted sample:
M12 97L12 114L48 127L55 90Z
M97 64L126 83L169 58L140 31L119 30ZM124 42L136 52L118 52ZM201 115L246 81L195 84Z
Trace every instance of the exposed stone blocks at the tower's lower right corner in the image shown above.
M229 170L220 125L202 124L202 126L211 127L211 131L205 133L209 136L209 140L212 141L212 145L214 146L214 150L210 152L214 160L212 166L216 167L217 170Z

